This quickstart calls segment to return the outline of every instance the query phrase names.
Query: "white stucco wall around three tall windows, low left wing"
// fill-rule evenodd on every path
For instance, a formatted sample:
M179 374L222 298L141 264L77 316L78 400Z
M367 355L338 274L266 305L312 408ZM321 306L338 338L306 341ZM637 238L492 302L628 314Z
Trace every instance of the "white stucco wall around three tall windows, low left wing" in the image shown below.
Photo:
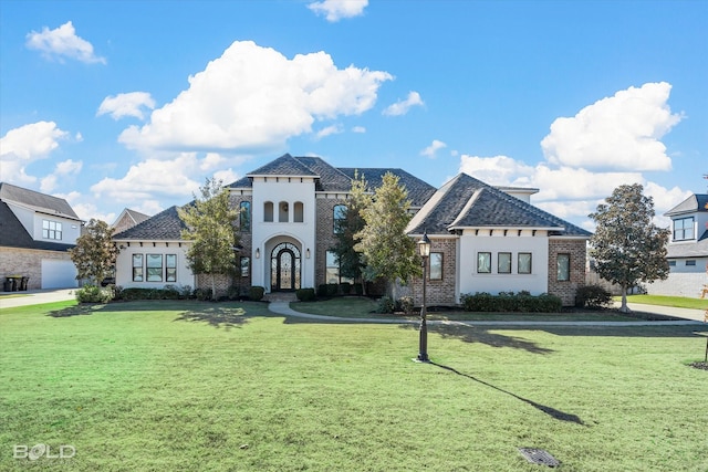
M196 279L191 270L187 265L186 251L188 243L183 242L181 248L177 241L174 242L153 242L144 241L140 247L139 241L131 241L129 245L126 241L119 241L118 247L123 247L116 259L115 283L124 289L164 289L165 285L175 285L179 287L190 286L195 289ZM147 274L145 263L147 254L163 255L163 281L162 282L134 282L133 281L133 254L143 254L143 272ZM165 280L165 254L177 255L177 282L166 282ZM144 280L146 276L143 277Z

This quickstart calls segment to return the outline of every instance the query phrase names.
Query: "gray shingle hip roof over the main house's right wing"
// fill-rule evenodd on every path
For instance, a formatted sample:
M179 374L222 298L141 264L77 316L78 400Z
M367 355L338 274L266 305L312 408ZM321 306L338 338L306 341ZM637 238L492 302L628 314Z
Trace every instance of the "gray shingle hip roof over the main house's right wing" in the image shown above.
M467 174L459 174L442 186L410 221L408 232L447 234L462 228L548 228L553 235L591 235Z

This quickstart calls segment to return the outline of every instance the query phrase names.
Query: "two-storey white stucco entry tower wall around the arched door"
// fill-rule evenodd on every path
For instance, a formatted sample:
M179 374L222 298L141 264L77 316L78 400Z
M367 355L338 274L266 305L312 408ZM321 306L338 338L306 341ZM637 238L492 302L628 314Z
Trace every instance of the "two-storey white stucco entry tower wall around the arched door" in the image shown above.
M270 286L270 256L281 242L291 242L301 252L301 286L314 286L315 269L315 188L311 177L254 177L252 213L252 284ZM273 203L273 221L264 221L264 204ZM279 208L288 203L288 222L279 221ZM294 222L295 202L303 203L303 221ZM310 250L310 258L306 252ZM258 256L257 256L258 255Z

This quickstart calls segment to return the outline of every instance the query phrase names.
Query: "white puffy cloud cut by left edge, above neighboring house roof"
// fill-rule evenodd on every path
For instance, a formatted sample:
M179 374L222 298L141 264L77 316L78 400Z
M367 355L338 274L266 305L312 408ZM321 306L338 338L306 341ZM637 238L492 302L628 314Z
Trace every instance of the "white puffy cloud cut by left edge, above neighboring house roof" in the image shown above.
M25 172L27 166L46 158L67 136L69 133L58 128L54 122L38 122L10 129L0 138L2 180L34 182L37 178Z

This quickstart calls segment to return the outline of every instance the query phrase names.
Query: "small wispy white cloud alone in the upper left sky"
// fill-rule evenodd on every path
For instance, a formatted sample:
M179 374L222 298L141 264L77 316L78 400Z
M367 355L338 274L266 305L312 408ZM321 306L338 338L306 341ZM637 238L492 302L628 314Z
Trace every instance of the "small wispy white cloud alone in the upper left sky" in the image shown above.
M59 61L69 57L85 63L106 63L104 57L94 54L93 45L88 41L76 35L71 21L55 30L44 27L39 33L32 31L27 35L27 46L42 52L46 57L56 57Z

